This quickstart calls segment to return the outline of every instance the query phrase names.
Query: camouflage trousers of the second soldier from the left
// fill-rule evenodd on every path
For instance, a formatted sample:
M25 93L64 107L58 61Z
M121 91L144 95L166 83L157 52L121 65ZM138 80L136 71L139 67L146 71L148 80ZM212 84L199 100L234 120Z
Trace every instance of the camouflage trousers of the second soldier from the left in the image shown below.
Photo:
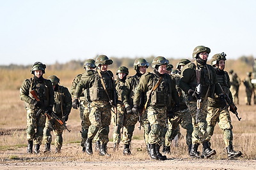
M54 127L53 127L54 126ZM52 123L46 119L44 128L44 143L52 143L51 131L55 135L55 146L56 148L61 148L63 143L63 126L55 119L52 119Z

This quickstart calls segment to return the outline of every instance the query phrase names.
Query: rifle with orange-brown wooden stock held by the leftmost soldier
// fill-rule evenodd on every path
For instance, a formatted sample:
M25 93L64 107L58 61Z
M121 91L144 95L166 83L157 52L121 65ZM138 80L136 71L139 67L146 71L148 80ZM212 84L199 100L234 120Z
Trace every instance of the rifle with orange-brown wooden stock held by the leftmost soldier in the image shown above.
M31 90L30 94L32 94L32 96L36 99L36 101L40 102L40 99L38 98L35 90ZM45 113L45 110L42 108L40 108L40 110L37 111L36 117L38 117L38 115L40 115L41 113ZM65 127L65 129L67 129L68 132L70 132L70 130L67 128L67 126L64 124L64 122L53 111L51 113L51 116L47 113L45 113L45 116L51 122L52 127L55 127L54 123L52 122L52 118L54 118L59 124L61 124L63 127Z

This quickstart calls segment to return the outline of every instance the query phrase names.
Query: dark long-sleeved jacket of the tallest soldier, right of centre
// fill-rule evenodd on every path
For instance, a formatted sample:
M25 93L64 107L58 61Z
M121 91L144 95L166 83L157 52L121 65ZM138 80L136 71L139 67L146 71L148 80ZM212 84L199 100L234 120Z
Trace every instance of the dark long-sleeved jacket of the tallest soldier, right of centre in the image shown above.
M218 85L218 80L216 78L214 68L209 64L205 64L205 66L198 64L198 66L201 69L200 83L202 85L202 98L204 99L205 97L213 97L214 92L218 95L221 94L221 89ZM185 97L188 97L189 101L196 100L195 97L188 94L188 90L195 90L196 85L196 65L195 63L190 62L182 68L180 74L180 88L185 92ZM209 92L207 94L208 89Z

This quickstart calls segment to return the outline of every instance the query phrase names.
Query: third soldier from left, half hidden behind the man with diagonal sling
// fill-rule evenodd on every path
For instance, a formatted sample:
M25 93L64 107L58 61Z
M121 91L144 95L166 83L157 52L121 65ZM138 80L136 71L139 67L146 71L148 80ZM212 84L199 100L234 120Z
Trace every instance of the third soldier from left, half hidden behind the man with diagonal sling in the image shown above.
M92 70L95 68L95 60L93 59L88 59L85 60L84 62L84 69L85 70ZM72 81L72 86L71 86L71 94L74 95L76 92L76 86L81 80L82 74L78 74L74 80ZM80 119L81 119L81 146L83 147L83 152L85 152L85 147L84 143L87 138L88 134L88 128L91 125L91 122L89 120L89 113L90 113L90 94L89 90L86 89L80 94L80 103L79 103L79 112L80 112Z

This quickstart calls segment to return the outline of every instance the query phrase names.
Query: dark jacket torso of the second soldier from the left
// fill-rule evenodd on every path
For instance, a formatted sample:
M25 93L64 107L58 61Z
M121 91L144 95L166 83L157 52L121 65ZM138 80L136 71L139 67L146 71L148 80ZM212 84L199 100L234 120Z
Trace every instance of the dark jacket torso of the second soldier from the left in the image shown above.
M72 107L72 97L68 89L63 86L56 86L54 89L54 112L63 117L69 115Z

